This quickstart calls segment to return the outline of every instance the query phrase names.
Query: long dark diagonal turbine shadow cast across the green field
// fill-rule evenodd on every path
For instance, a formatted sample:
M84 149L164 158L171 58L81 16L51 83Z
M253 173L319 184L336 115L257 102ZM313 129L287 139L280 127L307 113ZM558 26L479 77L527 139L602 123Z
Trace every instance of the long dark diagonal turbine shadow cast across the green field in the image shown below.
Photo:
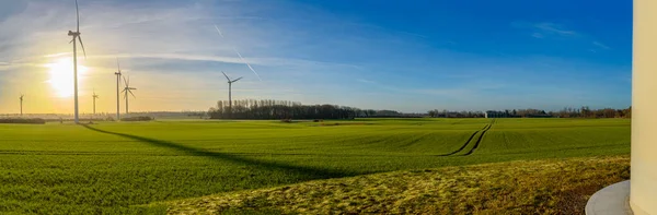
M185 146L185 145L174 143L174 142L169 142L169 141L149 139L149 138L125 134L125 133L117 133L117 132L112 132L112 131L104 131L104 130L100 130L100 129L90 127L88 124L82 124L82 127L84 127L89 130L92 130L92 131L100 132L100 133L113 134L113 135L139 141L142 143L148 143L148 144L155 145L155 146L168 147L168 148L176 150L178 152L184 152L186 154L194 155L194 156L203 156L203 157L209 157L209 158L215 158L215 159L222 159L222 160L228 160L228 162L232 162L235 164L254 165L254 166L262 167L265 169L270 169L270 170L279 169L279 170L284 170L284 171L297 172L302 176L309 177L307 179L342 178L342 177L350 177L350 176L357 175L357 174L347 174L347 172L335 171L335 170L330 170L330 169L311 168L311 167L295 166L295 165L289 165L289 164L258 160L258 159L237 156L237 155L228 154L228 153L209 152L209 151L205 151L201 148L189 147L189 146Z

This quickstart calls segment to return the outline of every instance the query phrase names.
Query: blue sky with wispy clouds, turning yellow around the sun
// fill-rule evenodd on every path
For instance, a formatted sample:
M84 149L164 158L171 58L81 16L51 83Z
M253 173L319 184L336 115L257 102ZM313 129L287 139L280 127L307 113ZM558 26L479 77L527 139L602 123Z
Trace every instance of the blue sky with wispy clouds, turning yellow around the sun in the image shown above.
M33 111L72 112L39 67L70 57L72 5L0 2L0 112L15 112L20 93ZM631 104L631 1L80 0L80 10L84 110L93 89L100 111L114 110L117 57L138 87L134 110L206 110L228 97L221 71L244 76L234 98L417 112Z

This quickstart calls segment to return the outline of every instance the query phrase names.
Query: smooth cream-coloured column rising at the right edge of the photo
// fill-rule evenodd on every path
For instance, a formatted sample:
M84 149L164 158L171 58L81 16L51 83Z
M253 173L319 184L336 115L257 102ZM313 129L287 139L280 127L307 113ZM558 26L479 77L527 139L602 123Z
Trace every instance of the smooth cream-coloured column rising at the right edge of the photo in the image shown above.
M634 0L630 205L657 215L657 1Z

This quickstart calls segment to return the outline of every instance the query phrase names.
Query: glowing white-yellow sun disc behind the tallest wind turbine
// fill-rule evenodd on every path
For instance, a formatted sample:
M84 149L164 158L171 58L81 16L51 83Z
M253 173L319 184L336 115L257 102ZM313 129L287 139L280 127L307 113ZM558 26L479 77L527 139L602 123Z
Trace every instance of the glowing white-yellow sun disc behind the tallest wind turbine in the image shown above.
M54 89L54 94L58 97L73 96L73 58L61 58L51 63L46 64L48 68L49 79L46 81ZM87 73L89 68L78 64L78 92L81 87L81 77Z

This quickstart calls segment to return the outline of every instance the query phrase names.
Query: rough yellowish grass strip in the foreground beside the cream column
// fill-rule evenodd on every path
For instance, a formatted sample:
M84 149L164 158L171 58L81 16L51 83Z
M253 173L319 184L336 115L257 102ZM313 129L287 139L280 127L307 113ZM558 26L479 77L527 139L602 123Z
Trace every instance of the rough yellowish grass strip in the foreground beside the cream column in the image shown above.
M169 214L584 214L593 192L629 178L629 156L546 159L318 180L164 204Z

